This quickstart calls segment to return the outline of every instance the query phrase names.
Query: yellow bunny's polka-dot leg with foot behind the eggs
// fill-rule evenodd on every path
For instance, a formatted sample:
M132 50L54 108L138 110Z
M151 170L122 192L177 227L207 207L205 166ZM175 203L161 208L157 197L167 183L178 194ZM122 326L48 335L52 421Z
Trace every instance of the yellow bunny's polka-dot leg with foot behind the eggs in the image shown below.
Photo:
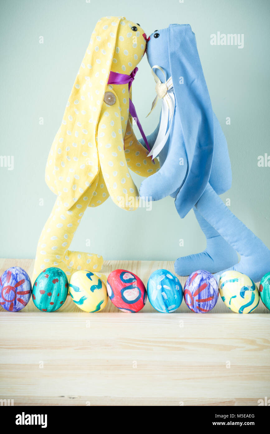
M68 250L81 217L91 200L96 182L93 187L92 185L70 210L66 210L60 198L57 198L39 238L33 281L42 270L51 266L61 268L67 276L80 269L78 267L87 268L89 271L99 271L101 269L103 264L101 256L94 254L88 256L87 253Z

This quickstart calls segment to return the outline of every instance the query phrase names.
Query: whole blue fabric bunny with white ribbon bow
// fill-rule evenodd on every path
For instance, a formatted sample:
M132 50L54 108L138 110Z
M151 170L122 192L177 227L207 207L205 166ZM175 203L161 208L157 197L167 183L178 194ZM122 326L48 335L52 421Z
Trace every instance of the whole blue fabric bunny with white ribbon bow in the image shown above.
M189 24L170 24L150 35L146 53L164 113L147 138L161 168L141 183L140 195L154 201L174 197L181 218L193 208L207 240L204 252L178 258L175 272L208 270L218 278L225 269L237 270L258 282L270 270L270 250L219 197L231 187L231 164L195 34Z

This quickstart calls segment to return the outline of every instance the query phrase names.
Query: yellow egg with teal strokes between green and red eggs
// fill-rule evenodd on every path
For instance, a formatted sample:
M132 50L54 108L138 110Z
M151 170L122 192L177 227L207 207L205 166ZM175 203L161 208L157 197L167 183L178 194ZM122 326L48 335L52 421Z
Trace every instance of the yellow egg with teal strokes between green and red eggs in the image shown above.
M108 302L106 285L99 274L80 270L69 279L71 298L85 312L100 312Z

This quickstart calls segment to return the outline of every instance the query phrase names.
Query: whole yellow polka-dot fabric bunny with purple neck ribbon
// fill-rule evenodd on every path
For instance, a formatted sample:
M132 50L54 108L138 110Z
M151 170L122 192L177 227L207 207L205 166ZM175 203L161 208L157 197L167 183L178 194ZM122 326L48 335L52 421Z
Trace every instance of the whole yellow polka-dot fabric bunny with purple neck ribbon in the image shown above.
M46 164L46 183L58 197L39 238L33 280L50 266L67 276L99 271L100 255L68 250L84 211L109 196L136 209L129 169L144 177L159 169L132 129L131 83L145 47L144 31L124 17L96 24Z

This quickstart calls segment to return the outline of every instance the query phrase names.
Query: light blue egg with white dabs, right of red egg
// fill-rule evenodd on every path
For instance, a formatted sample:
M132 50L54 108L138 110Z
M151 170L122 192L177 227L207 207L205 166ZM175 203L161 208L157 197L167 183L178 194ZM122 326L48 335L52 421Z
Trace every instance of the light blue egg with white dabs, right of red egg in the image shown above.
M179 280L168 270L156 270L148 279L148 300L159 312L174 312L183 300L183 288Z

